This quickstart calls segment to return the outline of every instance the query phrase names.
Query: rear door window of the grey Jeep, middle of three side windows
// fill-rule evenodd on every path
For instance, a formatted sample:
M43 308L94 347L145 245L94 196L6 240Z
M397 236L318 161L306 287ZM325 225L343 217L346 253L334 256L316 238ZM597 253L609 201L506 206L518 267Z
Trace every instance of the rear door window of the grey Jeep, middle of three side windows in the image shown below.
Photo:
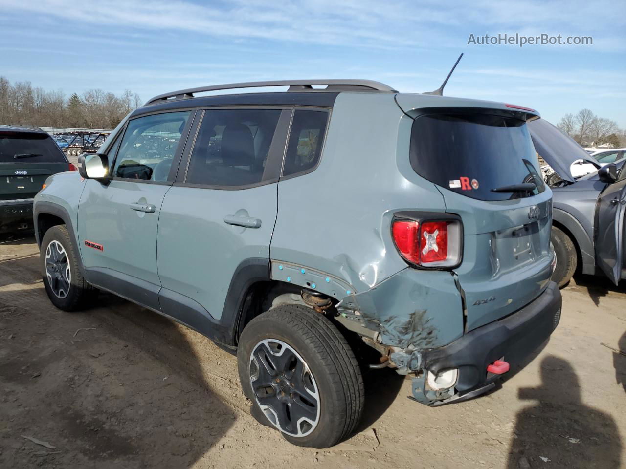
M205 111L185 182L250 186L267 179L265 166L280 109Z

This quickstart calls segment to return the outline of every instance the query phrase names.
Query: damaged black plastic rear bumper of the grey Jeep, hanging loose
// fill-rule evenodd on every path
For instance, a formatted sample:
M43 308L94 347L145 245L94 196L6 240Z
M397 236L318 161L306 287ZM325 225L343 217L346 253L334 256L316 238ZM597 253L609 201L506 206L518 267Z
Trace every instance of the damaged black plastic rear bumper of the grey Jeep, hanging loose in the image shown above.
M458 368L456 385L450 390L428 388L426 376L413 380L413 398L427 405L474 397L493 388L500 375L487 372L487 366L504 357L511 367L525 359L544 343L558 325L561 316L561 293L550 282L540 296L515 313L481 326L446 346L423 351L423 369L438 373ZM481 391L481 392L477 392Z

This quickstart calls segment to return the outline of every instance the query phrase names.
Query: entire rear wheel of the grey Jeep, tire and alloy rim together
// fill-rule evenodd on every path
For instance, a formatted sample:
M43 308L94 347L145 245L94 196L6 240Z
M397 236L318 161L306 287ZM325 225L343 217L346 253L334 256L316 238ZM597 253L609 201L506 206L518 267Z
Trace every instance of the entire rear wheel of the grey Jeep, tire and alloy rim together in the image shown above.
M361 419L361 370L346 338L321 313L281 305L239 339L239 380L252 415L294 445L327 448Z

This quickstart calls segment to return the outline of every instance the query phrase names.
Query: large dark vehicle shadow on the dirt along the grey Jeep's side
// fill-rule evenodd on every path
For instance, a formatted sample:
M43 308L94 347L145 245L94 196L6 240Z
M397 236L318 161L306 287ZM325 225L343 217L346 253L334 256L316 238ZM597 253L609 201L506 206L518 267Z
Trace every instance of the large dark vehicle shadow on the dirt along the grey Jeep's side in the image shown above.
M21 261L30 283L37 262ZM11 270L0 264L0 276ZM237 385L203 371L199 336L106 293L66 313L43 286L10 284L0 287L1 467L186 468L233 426L215 389Z

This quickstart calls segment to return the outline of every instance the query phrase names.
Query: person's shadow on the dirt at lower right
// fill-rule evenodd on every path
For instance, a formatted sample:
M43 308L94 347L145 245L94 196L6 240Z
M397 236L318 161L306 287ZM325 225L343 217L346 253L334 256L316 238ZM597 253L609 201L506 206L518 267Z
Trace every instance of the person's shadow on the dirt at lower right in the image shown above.
M541 385L521 388L519 398L533 403L515 421L508 469L544 463L567 468L618 468L622 441L613 418L585 405L578 376L567 360L541 361ZM547 467L547 465L546 465Z

